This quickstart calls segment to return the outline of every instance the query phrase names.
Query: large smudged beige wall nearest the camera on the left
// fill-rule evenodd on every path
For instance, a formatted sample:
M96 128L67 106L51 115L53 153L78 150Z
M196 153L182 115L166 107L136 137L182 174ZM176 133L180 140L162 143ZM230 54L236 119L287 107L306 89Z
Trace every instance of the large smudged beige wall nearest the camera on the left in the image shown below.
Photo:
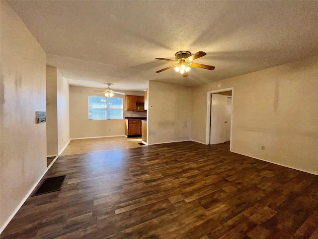
M0 1L0 232L46 170L45 52L5 1Z

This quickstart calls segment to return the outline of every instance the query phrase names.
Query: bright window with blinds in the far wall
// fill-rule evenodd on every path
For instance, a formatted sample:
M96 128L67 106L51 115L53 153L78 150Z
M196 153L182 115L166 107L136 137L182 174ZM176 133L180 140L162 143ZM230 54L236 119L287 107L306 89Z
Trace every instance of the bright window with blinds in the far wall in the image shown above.
M123 99L88 96L88 119L123 119Z

